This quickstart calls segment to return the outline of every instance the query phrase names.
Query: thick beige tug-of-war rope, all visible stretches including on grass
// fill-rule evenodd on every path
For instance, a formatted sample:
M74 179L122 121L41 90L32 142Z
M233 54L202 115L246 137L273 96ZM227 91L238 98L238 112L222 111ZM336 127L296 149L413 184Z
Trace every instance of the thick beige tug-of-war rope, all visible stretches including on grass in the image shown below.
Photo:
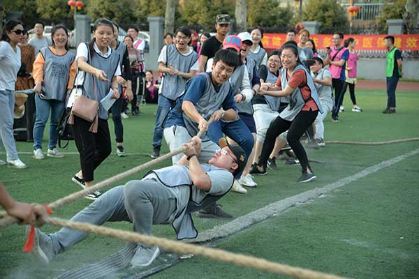
M212 122L212 119L208 121L207 125L210 126L210 123ZM200 133L198 133L198 137L200 137L203 134L204 130L201 130ZM358 145L383 145L383 144L394 144L399 142L413 142L413 141L419 141L419 138L411 138L411 139L405 139L405 140L393 140L390 142L339 142L339 141L329 141L330 144L358 144ZM148 169L149 167L152 167L153 165L156 165L158 163L163 162L166 159L172 158L172 156L176 156L179 153L183 153L186 151L188 147L182 146L182 148L174 150L170 153L167 153L159 158L156 158L154 160L151 160L145 164L142 164L138 167L134 167L133 169L129 169L126 172L122 172L121 174L117 174L115 176L110 177L109 179L105 179L104 181L101 181L97 183L94 186L91 186L89 188L85 188L84 190L80 190L78 192L75 192L71 195L68 195L66 197L63 197L61 199L58 199L55 202L52 202L47 207L50 209L58 209L60 206L63 206L65 204L70 204L71 202L74 202L77 199L80 199L87 194L94 193L96 190L100 190L101 188L111 186L113 183L117 181L121 181L122 179L127 178L128 176L131 176L133 174L136 174L144 169ZM15 223L18 223L19 220L16 218L13 218L11 216L8 216L6 211L0 212L0 227L6 227L8 225L13 225ZM103 236L111 236L118 239L122 239L124 241L130 241L133 243L144 243L147 246L159 246L160 248L163 248L165 250L169 250L171 252L177 252L179 254L193 254L193 255L200 255L203 257L207 257L209 259L214 259L220 262L230 262L233 264L237 264L239 266L246 266L251 267L254 269L259 269L263 271L269 271L272 273L280 273L285 274L287 276L293 276L296 278L307 278L307 279L338 279L342 278L340 276L335 276L327 273L321 273L318 271L311 271L309 269L303 269L300 267L295 266L289 266L286 264L279 264L276 262L270 262L266 259L261 259L258 257L251 257L247 255L242 254L235 254L233 252L227 252L224 250L216 249L216 248L208 248L204 246L198 246L194 244L189 243L183 243L181 241L174 241L170 239L163 239L156 236L148 236L144 234L139 234L137 232L126 232L121 229L111 229L108 227L101 227L97 225L91 225L89 223L79 223L79 222L73 222L69 220L64 220L61 218L52 218L49 216L41 217L41 220L37 220L36 224L43 224L47 223L50 225L55 225L59 227L68 227L70 229L77 229L83 232L89 232L94 234L101 234Z

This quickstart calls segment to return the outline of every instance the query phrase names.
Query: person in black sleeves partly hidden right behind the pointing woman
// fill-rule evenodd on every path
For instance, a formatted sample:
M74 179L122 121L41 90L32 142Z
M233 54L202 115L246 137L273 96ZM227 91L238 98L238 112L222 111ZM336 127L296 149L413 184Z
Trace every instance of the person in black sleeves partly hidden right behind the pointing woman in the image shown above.
M117 76L117 81L119 84L119 92L122 93L122 88L125 88L125 94L128 97L128 100L133 100L133 91L131 89L131 65L128 56L128 50L124 43L119 42L119 25L116 22L112 22L114 27L114 40L112 40L111 47L119 54L119 67L121 72L124 73L124 77ZM124 70L123 70L124 69ZM119 94L119 98L115 103L110 107L110 112L112 112L112 121L114 122L114 132L115 140L117 142L117 156L125 157L126 153L124 151L124 126L122 125L121 112L122 105L124 100L122 100L122 94Z

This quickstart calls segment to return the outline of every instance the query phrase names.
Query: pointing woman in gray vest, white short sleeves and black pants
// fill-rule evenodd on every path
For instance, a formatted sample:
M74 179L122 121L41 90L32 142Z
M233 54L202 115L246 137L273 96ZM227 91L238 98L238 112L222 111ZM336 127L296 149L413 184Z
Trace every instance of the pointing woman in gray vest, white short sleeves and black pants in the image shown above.
M100 101L110 93L110 89L113 91L111 98L119 98L117 76L121 75L119 54L110 47L114 39L112 22L96 20L93 34L94 38L89 43L80 43L76 56L79 72L75 84L82 89L84 96L99 102L96 133L91 129L92 124L89 121L74 116L73 133L80 153L81 170L72 180L82 188L93 186L94 169L110 155L108 110L105 110ZM71 105L68 103L68 106ZM100 195L96 191L87 195L87 199L96 199Z

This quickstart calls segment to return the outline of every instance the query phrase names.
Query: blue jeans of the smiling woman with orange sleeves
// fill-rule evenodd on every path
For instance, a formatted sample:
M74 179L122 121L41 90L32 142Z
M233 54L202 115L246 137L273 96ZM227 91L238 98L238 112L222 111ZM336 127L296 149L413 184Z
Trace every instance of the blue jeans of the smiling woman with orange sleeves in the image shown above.
M43 100L38 94L35 96L36 120L34 126L34 150L42 149L43 131L48 121L51 110L50 121L50 141L48 149L54 149L57 146L57 127L59 125L59 116L63 112L66 102L61 100Z

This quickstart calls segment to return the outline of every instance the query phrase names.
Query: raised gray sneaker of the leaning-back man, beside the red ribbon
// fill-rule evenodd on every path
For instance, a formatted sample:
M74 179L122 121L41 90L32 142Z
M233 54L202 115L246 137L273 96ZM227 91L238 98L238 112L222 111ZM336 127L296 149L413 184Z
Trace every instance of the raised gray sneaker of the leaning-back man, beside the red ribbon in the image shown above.
M27 226L27 236L29 236L30 230L31 226ZM47 234L41 232L38 228L35 228L33 254L36 262L41 264L49 264L55 257L54 252L52 251L52 240L50 239L50 236L47 236Z

